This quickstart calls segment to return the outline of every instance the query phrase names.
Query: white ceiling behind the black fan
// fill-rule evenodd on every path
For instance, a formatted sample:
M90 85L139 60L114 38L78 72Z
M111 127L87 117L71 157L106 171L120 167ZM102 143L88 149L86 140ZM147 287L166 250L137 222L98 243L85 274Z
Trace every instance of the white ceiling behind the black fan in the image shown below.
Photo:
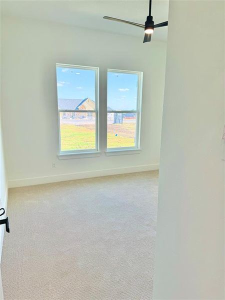
M103 15L144 24L148 0L1 0L1 14L55 21L107 32L143 36L143 29L105 20ZM168 0L152 0L154 23L168 19ZM157 28L154 40L166 41L167 27Z

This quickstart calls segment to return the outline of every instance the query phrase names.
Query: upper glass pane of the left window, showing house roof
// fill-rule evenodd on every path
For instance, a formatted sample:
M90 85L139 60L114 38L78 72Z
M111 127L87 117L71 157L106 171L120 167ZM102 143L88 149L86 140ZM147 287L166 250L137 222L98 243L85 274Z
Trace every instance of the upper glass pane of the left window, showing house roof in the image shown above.
M58 109L95 109L95 70L56 66Z

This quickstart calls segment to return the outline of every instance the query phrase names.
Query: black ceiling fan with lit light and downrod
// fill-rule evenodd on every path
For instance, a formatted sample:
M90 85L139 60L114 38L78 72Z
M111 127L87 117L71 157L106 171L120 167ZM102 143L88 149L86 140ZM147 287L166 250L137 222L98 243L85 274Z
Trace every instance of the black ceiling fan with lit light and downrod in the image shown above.
M104 15L103 18L111 20L111 21L127 23L127 24L131 24L131 25L134 25L134 26L137 26L137 27L144 28L143 42L151 40L151 34L154 32L154 28L163 27L163 26L168 25L168 21L165 21L165 22L158 23L158 24L154 25L153 17L151 15L151 0L149 0L149 15L147 16L144 25L139 24L139 23L130 22L130 21L121 20L121 19L111 17L111 16L107 16L107 15Z

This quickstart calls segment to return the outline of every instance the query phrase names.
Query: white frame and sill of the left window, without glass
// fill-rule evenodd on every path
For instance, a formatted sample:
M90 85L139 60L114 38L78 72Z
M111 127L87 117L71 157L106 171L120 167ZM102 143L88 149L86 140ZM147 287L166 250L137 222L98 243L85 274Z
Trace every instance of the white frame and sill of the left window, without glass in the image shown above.
M59 155L98 153L99 152L99 67L56 63L56 70L57 70L57 67L79 68L79 69L88 69L88 70L95 71L95 109L94 110L91 110L91 109L88 109L88 110L58 109L58 94L57 94ZM57 77L56 77L56 83L57 83ZM56 90L57 90L57 88L56 88ZM61 150L60 112L87 112L87 113L92 112L92 113L95 113L95 148L94 149L74 149L74 150L64 150L64 151Z

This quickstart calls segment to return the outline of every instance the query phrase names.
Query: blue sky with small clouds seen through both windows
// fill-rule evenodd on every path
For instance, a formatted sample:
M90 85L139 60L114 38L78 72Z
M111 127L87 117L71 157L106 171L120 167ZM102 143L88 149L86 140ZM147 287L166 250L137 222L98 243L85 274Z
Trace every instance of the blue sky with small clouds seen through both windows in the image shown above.
M56 67L58 98L95 101L95 71ZM108 72L107 106L116 110L136 109L136 74Z

